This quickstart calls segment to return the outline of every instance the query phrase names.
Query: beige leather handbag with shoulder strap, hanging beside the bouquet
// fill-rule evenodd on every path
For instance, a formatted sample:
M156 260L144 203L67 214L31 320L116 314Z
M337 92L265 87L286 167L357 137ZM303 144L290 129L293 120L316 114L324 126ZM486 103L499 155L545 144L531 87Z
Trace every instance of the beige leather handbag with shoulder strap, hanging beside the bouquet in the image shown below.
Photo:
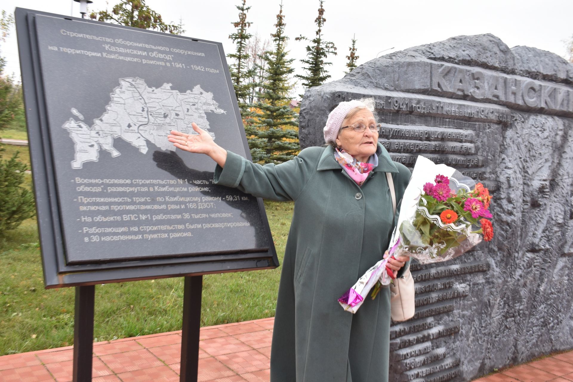
M392 196L392 208L396 215L396 192L390 172L386 172L386 179ZM414 317L414 310L414 278L408 267L401 277L390 283L390 316L393 321L406 321Z

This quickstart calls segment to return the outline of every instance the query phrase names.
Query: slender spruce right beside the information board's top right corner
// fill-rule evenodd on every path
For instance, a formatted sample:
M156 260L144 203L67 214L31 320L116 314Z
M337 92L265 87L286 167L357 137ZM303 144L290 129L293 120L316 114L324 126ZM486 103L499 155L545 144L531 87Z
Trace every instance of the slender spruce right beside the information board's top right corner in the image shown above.
M253 36L247 33L247 29L252 24L252 22L246 21L246 13L250 7L246 6L246 0L242 0L242 4L236 7L241 11L241 13L239 13L239 21L232 22L231 24L237 28L237 31L230 34L229 38L236 44L237 50L235 53L227 54L227 57L234 58L235 60L234 64L229 65L229 69L241 115L245 118L249 114L249 105L246 104L246 101L248 100L251 90L256 86L256 84L253 84L249 79L255 76L256 69L248 68L247 66L249 60L247 46L249 38Z

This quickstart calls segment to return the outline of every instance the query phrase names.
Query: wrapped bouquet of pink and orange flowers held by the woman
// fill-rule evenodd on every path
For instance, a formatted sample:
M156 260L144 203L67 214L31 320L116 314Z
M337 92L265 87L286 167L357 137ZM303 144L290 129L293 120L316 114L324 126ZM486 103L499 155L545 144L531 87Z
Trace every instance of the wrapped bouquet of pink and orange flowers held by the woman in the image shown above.
M465 253L482 239L493 238L489 204L492 197L481 183L445 164L418 156L392 238L388 258L372 266L342 297L344 310L355 313L372 286L376 296L393 273L390 257L405 255L419 263L447 261Z

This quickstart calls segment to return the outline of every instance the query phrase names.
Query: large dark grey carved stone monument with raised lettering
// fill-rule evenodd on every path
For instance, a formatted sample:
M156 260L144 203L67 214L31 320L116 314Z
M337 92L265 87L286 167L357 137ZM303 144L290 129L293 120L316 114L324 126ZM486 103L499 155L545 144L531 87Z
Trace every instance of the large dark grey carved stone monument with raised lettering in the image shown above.
M301 147L361 97L396 162L429 157L494 198L491 242L411 265L416 313L391 326L390 380L466 381L573 348L573 65L491 34L387 54L307 90Z

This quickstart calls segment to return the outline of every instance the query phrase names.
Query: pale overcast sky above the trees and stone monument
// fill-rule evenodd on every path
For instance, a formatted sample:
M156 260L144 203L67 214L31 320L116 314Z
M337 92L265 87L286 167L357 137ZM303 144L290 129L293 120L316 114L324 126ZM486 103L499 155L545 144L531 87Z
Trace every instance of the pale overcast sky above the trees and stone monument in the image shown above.
M92 10L103 10L119 0L93 0ZM236 5L240 0L147 0L147 5L160 13L166 22L179 23L182 19L185 36L223 43L225 53L234 52L229 40L238 21ZM301 58L305 57L305 41L295 41L303 35L314 37L314 23L319 0L284 0L285 34L290 37L289 57L296 74L304 74ZM280 0L247 0L251 9L247 21L253 22L249 32L270 39L273 33ZM79 4L72 0L3 0L0 9L14 11L16 6L79 17ZM337 56L331 56L331 78L344 76L348 48L356 35L358 64L372 60L380 53L387 54L411 46L445 40L461 34L492 33L510 48L516 45L533 46L566 56L566 40L573 36L573 1L571 0L325 0L324 39L333 41ZM15 32L2 44L7 72L19 74L18 49ZM299 94L300 90L295 92Z

